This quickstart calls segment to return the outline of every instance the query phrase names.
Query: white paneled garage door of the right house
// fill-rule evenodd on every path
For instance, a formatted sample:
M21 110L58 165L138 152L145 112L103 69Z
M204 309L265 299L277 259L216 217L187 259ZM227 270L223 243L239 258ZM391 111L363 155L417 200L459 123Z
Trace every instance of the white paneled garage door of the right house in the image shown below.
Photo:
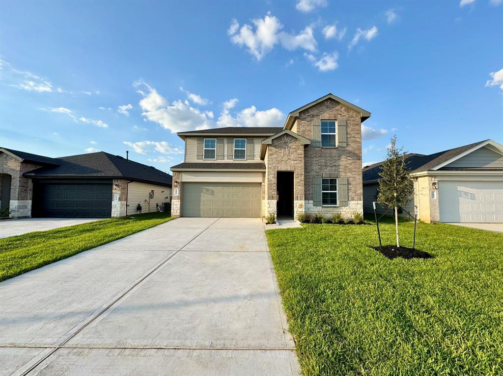
M441 222L503 222L503 182L440 181Z

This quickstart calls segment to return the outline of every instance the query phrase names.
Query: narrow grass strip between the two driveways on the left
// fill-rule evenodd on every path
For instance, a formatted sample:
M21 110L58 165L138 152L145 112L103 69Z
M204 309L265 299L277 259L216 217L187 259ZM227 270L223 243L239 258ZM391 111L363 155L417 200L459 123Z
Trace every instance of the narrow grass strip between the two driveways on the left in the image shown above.
M0 281L171 219L165 213L149 213L0 239Z

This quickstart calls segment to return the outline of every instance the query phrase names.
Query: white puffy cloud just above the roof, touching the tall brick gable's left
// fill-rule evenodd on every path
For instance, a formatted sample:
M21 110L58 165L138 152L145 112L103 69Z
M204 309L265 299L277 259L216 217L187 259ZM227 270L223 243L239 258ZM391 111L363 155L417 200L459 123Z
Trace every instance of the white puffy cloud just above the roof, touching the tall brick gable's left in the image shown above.
M232 101L230 107L225 103ZM257 111L257 107L250 106L239 111L236 116L229 113L237 99L231 99L224 103L224 109L217 120L218 127L281 127L285 121L285 114L278 108L270 108L265 111Z

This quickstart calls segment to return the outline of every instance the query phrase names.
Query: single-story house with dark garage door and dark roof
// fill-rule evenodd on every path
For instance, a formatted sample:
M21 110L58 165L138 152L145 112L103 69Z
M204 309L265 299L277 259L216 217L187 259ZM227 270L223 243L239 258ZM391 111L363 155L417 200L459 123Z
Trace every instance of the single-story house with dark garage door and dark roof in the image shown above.
M11 217L119 217L170 201L172 176L105 152L48 158L0 148L0 205Z

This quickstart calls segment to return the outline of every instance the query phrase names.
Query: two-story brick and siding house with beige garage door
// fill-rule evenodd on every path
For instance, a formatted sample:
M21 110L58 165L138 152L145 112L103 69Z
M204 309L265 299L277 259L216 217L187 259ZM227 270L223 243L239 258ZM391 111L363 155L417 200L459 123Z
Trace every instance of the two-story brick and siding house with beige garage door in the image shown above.
M181 132L172 213L260 217L363 212L361 123L370 112L327 94L289 113L283 128Z

